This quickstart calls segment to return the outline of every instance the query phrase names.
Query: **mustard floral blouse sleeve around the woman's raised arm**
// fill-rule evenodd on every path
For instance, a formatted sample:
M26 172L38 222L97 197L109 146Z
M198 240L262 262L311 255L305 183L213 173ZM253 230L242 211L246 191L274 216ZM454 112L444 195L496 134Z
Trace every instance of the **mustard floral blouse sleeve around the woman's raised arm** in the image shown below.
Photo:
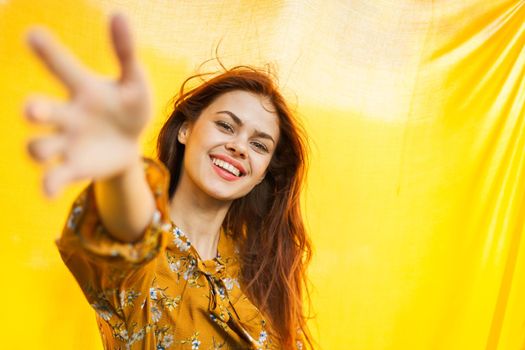
M93 183L74 201L56 240L62 260L88 301L105 319L122 312L125 300L121 292L129 286L126 281L131 276L147 283L152 275L149 263L166 248L168 241L169 171L157 160L143 157L142 162L156 209L139 241L126 243L108 234L96 207Z

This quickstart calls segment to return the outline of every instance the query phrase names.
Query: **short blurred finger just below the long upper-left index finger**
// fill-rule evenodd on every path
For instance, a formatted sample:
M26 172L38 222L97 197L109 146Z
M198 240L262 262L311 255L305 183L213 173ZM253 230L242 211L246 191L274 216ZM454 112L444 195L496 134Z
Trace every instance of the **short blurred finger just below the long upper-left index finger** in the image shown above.
M72 123L72 107L68 103L42 96L32 96L24 104L24 116L35 124L55 126L64 130Z

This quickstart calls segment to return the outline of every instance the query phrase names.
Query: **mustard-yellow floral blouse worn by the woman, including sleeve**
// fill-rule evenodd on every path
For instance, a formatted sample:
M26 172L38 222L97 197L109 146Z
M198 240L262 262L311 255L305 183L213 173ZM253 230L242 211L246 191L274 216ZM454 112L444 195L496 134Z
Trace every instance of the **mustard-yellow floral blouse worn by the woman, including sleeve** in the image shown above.
M203 261L169 218L168 170L150 158L143 157L143 165L156 211L140 241L108 235L92 183L73 203L56 241L96 311L104 348L278 348L241 290L233 239L221 230L217 257Z

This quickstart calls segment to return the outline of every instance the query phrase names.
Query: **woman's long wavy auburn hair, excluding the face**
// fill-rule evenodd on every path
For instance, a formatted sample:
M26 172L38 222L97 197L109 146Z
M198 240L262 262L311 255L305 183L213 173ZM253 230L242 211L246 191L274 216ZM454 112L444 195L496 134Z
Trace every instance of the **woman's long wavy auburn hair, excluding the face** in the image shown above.
M306 134L269 71L222 67L224 71L210 79L203 78L209 74L205 73L184 81L160 131L157 153L170 170L169 198L177 189L182 169L184 145L177 135L185 121L196 121L203 109L229 91L243 90L271 101L279 117L280 137L266 176L246 196L233 201L222 226L240 246L243 291L266 315L281 346L295 347L297 334L302 332L313 347L303 309L303 297L310 300L306 266L312 255L300 209L308 163ZM196 78L200 84L188 89Z

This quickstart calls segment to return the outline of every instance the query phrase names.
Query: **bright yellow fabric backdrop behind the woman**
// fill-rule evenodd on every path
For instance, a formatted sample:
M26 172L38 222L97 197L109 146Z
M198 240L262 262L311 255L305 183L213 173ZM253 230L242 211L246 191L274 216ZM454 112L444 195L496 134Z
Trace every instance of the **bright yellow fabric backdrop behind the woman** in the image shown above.
M322 348L525 349L525 1L0 0L3 349L101 348L53 243L85 183L45 200L24 149L24 97L64 90L23 38L49 26L115 75L117 9L155 89L147 155L219 42L227 65L279 67L312 144Z

